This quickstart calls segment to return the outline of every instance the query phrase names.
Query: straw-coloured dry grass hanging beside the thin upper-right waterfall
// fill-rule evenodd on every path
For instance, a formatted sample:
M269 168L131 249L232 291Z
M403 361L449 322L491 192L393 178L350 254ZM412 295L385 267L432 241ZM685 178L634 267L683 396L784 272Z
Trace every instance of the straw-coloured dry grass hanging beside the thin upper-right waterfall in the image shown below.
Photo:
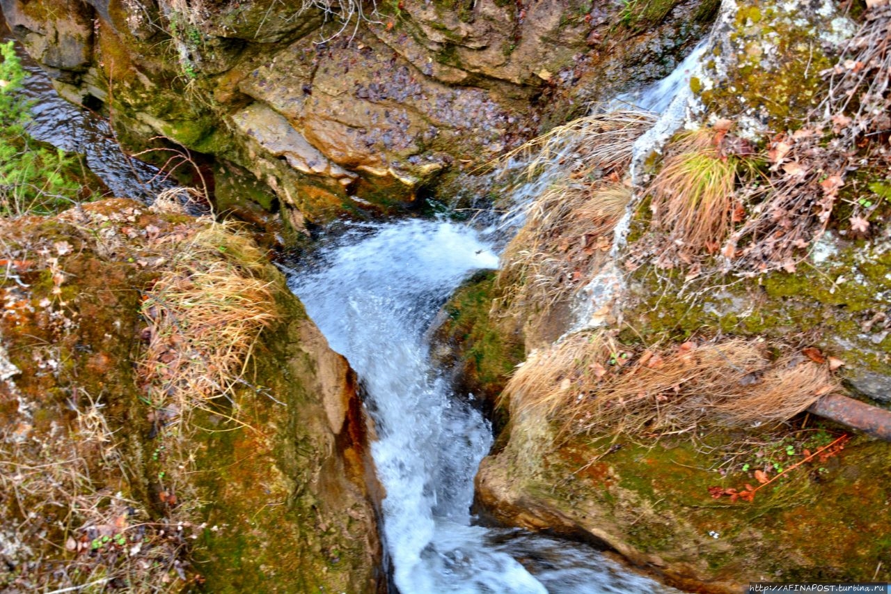
M511 213L525 223L503 253L500 309L544 318L597 274L632 198L620 180L634 141L655 119L645 111L595 113L503 156L503 163L524 157L527 177L559 165L560 178Z

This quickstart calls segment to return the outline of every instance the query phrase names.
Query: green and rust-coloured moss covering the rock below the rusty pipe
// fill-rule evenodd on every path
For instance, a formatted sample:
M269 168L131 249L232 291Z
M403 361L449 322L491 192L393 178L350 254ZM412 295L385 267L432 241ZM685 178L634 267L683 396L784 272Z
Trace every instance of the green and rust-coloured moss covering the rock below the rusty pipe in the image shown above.
M796 443L811 434L789 433ZM745 582L753 574L787 579L813 570L871 579L891 554L887 539L862 539L863 533L891 533L885 511L891 445L854 438L837 456L799 466L751 502L709 495L712 486L758 484L739 464L728 466L721 452L739 453L740 441L770 443L781 435L713 433L697 442L649 443L621 435L575 438L545 456L538 478L519 489L534 508L560 510L570 524L605 534L623 550L631 547L641 562L658 557L666 577L679 584L690 579L691 567L703 582ZM604 455L614 442L620 447ZM500 454L513 455L510 448ZM801 458L800 452L794 457ZM852 497L857 506L846 503ZM825 538L828 533L832 538Z

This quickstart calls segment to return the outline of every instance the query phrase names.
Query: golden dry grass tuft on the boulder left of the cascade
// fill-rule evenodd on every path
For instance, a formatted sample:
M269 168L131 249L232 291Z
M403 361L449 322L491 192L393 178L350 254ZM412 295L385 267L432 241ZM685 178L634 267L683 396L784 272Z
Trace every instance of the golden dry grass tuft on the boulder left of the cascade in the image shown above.
M141 376L153 403L183 412L230 397L274 319L266 255L232 227L215 224L176 246L179 260L144 296Z

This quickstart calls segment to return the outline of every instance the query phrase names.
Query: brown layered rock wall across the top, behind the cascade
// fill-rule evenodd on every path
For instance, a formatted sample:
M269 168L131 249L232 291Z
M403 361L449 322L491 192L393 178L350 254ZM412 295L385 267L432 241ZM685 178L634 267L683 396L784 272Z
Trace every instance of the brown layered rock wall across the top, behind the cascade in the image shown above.
M546 122L665 74L715 8L409 0L344 15L324 3L37 4L2 5L64 96L104 104L128 146L164 136L213 155L217 183L247 205L250 177L259 180L275 197L260 206L281 209L294 231L370 203L461 194L474 186L463 174Z

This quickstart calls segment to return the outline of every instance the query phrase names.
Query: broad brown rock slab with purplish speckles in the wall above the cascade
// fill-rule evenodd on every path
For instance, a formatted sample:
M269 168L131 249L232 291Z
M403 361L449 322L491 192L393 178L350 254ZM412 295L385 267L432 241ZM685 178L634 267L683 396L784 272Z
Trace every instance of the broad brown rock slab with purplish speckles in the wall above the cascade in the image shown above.
M406 186L426 181L456 157L494 157L521 118L485 91L421 75L367 35L324 49L311 37L298 41L239 88L341 167Z

